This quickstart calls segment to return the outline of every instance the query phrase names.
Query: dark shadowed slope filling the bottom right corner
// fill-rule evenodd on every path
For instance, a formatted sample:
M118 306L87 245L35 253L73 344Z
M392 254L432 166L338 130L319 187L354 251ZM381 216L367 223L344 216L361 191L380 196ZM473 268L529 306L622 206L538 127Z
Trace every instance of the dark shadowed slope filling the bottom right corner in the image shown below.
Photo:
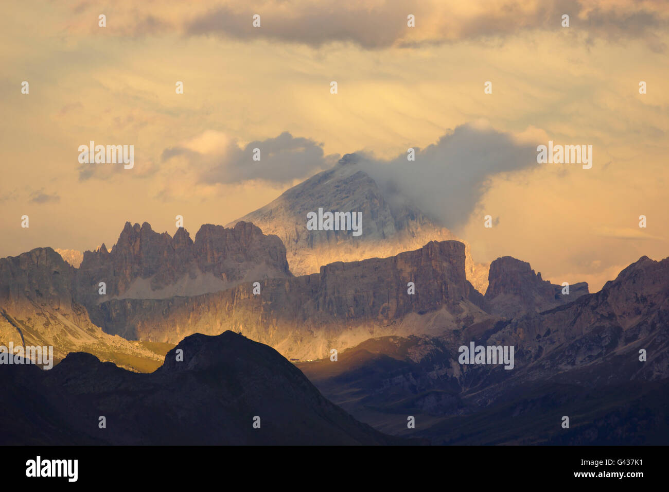
M438 445L666 446L669 380L584 388L533 382L475 414L430 422L412 436ZM569 428L563 428L563 416Z

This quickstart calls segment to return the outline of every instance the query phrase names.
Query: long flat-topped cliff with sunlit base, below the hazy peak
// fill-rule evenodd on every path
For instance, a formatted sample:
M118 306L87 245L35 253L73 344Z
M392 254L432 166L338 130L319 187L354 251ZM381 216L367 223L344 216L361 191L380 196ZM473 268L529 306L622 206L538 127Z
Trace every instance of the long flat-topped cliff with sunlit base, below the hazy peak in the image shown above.
M370 337L442 333L488 317L466 280L464 245L430 242L391 258L336 262L318 274L261 282L197 297L112 299L92 313L108 333L175 341L226 329L276 348L286 357L316 359ZM415 284L415 295L407 284ZM478 305L477 305L478 304Z

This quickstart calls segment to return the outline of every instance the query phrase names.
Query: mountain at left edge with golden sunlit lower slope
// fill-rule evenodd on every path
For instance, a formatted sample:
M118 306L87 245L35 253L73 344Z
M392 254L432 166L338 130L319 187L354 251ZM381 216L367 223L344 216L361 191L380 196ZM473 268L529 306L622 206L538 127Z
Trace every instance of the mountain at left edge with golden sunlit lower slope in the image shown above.
M1 258L0 345L52 345L56 361L88 351L134 370L158 367L167 345L104 333L74 299L75 280L75 268L52 248Z

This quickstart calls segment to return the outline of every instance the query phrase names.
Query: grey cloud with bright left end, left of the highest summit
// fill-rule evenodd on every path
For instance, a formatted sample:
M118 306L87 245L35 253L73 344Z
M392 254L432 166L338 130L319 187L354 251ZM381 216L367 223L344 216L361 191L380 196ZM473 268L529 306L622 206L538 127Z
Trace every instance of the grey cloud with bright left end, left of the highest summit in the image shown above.
M255 151L260 160L254 160ZM332 167L339 155L326 156L322 143L284 132L278 137L240 145L223 133L205 132L176 147L165 149L163 162L185 159L200 184L231 184L262 180L276 185L292 183Z

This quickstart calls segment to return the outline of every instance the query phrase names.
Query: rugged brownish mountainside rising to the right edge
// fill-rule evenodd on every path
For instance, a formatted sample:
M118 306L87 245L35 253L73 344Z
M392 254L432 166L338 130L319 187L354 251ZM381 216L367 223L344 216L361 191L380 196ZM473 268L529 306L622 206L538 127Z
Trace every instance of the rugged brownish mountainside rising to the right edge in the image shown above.
M524 370L515 378L545 378L601 363L609 367L590 382L669 378L669 258L643 256L601 291L513 319L488 341L493 339L521 347L516 365ZM648 351L644 363L642 348Z

